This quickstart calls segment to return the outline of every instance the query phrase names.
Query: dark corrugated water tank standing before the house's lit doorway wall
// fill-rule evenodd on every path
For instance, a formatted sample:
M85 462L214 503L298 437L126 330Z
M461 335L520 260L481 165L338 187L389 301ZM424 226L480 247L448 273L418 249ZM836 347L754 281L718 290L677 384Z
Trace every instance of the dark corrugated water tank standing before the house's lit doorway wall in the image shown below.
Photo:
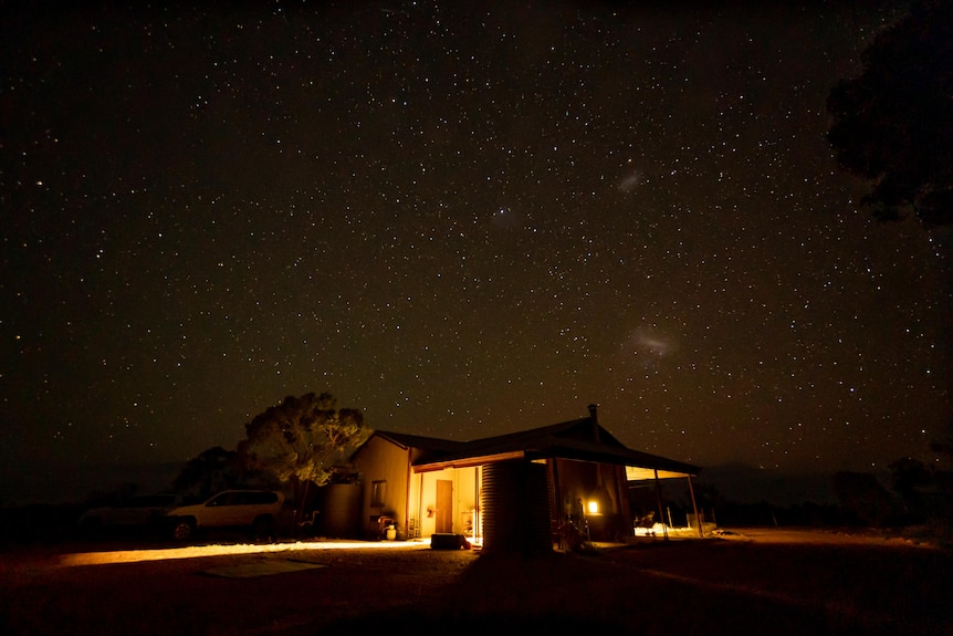
M543 554L553 550L546 465L502 461L483 467L483 552Z

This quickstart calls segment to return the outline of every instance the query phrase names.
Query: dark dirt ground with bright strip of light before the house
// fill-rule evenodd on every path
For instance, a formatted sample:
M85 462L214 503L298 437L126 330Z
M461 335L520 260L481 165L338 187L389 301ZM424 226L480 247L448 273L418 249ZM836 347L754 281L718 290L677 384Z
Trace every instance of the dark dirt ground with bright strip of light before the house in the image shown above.
M953 635L953 555L830 532L746 530L537 557L300 543L72 545L2 560L0 633L10 635ZM220 575L289 564L310 569Z

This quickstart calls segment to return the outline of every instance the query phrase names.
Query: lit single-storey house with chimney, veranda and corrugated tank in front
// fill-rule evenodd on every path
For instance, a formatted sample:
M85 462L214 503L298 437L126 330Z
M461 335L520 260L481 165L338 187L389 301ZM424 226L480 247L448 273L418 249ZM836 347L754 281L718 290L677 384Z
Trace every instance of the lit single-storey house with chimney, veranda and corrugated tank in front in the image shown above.
M627 448L595 406L580 419L465 442L377 430L352 461L364 477L366 536L461 534L484 550L551 550L567 523L595 541L630 536L632 484L685 478L691 491L700 470Z

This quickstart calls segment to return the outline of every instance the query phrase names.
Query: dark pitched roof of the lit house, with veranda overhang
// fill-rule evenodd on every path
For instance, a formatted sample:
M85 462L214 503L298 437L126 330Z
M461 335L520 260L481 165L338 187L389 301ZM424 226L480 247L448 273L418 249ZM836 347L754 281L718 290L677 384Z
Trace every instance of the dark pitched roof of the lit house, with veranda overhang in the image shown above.
M451 441L431 437L376 431L401 447L423 452L413 461L418 472L444 468L467 468L506 459L562 458L625 466L630 481L698 475L690 463L627 448L595 417L584 417L519 432Z

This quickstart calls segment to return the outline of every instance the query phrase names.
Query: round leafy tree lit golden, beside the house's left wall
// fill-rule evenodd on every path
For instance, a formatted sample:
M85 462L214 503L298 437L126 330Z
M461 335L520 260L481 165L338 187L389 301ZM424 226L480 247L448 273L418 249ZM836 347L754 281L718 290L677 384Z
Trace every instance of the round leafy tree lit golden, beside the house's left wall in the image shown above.
M297 517L312 486L327 483L348 453L366 439L359 409L336 409L329 393L287 396L245 425L239 455L252 470L265 470L294 491Z

